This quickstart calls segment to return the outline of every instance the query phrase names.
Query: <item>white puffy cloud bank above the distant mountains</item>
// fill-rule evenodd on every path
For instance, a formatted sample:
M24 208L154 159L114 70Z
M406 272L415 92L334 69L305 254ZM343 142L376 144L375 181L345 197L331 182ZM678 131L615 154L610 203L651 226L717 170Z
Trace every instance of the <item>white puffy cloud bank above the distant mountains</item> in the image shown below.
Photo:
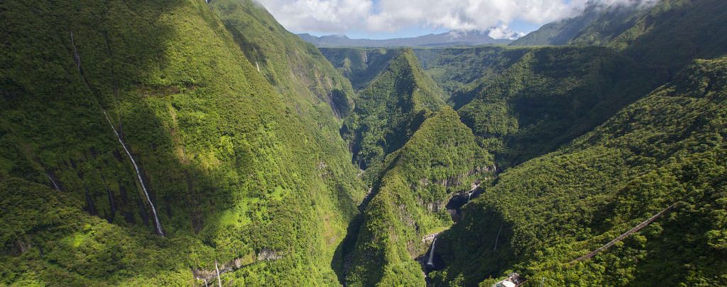
M587 3L648 4L658 0L258 0L296 32L394 32L413 26L490 30L512 37L514 20L543 24L572 17Z

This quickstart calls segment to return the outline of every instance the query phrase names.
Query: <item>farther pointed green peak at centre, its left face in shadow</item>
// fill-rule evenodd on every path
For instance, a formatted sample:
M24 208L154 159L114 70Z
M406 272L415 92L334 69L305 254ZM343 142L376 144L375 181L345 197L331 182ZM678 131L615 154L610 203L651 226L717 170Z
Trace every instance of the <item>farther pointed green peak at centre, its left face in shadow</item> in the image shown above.
M441 88L425 75L411 49L389 53L396 56L358 94L341 130L361 169L379 165L379 170L384 157L401 148L427 114L444 105Z

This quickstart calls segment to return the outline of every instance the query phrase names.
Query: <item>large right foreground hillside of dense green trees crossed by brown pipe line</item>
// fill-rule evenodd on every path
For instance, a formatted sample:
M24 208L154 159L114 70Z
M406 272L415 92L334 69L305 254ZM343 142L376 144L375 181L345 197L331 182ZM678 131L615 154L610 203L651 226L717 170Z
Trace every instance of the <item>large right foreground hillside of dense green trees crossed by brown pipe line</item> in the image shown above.
M441 236L446 269L431 277L447 286L491 286L487 278L510 272L526 286L727 285L726 127L727 58L696 60L568 146L502 173Z

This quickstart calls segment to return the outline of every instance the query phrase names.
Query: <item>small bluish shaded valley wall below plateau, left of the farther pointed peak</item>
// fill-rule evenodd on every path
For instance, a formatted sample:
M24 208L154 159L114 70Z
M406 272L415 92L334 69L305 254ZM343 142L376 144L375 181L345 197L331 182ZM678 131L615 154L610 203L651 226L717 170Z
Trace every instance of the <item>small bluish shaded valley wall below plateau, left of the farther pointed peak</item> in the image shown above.
M366 48L318 48L334 67L361 91L396 57L396 50Z

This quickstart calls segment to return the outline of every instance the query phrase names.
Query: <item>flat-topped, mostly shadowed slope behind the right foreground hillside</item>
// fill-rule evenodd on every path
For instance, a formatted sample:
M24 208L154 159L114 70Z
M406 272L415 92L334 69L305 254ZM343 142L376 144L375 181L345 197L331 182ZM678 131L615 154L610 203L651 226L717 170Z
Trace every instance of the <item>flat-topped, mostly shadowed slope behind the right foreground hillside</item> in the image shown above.
M664 75L600 47L531 49L450 99L462 121L512 166L586 133Z

